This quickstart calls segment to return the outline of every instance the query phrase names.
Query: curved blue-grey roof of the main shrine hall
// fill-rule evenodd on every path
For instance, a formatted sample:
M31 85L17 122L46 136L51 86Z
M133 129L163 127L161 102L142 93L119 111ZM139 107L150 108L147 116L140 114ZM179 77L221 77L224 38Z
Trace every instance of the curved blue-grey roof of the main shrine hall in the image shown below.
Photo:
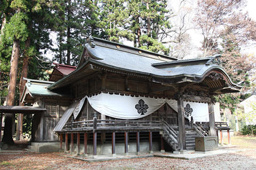
M84 53L76 71L51 84L47 89L65 86L65 82L75 77L75 74L85 65L94 64L118 71L147 75L155 82L170 84L201 82L207 75L216 72L222 75L232 92L239 91L241 87L233 83L228 74L218 65L218 57L220 55L177 61L165 55L91 38L85 44Z

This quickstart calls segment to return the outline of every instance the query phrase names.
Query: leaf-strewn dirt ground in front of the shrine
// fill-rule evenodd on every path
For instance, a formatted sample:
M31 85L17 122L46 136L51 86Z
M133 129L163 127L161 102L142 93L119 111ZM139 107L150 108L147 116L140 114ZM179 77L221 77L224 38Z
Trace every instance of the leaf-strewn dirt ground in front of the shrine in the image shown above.
M138 158L86 163L55 153L1 152L0 169L256 169L256 137L233 137L243 151L191 160Z

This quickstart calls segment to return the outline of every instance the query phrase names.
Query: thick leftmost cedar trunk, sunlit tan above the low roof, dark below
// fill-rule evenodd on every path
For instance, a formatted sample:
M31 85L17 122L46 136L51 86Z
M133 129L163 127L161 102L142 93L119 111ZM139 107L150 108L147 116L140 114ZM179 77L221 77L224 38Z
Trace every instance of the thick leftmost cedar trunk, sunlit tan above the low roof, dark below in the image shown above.
M11 57L10 83L9 83L9 89L8 89L7 106L14 105L19 52L20 52L20 41L18 39L14 39L13 48L12 48L12 57ZM4 143L8 143L8 144L14 143L12 139L12 121L13 121L13 114L5 114L4 135L2 139Z

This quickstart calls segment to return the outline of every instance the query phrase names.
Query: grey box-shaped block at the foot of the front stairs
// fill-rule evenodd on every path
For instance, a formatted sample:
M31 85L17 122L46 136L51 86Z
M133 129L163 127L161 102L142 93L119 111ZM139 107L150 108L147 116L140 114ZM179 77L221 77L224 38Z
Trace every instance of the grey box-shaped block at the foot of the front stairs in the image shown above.
M211 151L218 149L218 137L196 137L196 151Z

